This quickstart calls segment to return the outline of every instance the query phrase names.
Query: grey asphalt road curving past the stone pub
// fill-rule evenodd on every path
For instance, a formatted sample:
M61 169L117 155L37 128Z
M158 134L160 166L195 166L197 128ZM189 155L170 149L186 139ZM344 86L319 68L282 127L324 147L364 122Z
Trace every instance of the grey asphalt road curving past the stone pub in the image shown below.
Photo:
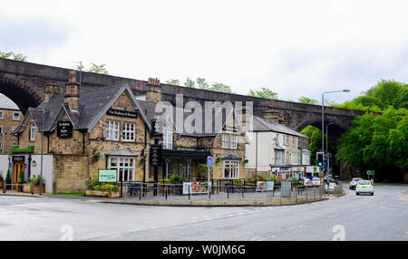
M296 206L171 207L0 196L0 240L408 240L408 186Z

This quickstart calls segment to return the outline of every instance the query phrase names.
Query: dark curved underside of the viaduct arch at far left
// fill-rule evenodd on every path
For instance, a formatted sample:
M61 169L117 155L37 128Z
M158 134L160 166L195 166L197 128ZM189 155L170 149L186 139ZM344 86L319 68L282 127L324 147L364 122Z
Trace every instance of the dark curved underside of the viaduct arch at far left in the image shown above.
M41 97L29 85L10 78L0 78L0 93L14 101L23 114L29 107L36 107L42 101Z

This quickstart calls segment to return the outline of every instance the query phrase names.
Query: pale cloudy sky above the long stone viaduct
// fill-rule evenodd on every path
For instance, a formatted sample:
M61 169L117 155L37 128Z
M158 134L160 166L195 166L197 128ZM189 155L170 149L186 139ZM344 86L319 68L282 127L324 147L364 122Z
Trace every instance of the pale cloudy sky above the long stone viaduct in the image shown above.
M349 101L408 82L408 1L0 0L0 52L160 82L205 78L238 94Z

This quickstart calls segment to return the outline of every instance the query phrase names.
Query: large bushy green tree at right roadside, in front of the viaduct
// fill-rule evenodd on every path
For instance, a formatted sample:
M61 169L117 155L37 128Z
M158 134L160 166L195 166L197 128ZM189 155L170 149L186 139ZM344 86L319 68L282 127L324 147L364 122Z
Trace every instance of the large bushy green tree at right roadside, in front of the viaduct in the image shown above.
M408 169L408 119L388 108L377 115L365 113L342 135L336 160L345 167L375 170L375 177L401 181Z

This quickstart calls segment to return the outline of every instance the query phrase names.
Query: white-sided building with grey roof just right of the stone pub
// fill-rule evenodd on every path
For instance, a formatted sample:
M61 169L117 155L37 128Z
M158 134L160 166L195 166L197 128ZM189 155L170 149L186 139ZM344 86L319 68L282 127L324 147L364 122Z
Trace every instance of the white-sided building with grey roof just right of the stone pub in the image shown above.
M289 129L275 110L264 112L264 119L254 116L250 142L246 145L246 172L268 177L272 174L283 179L305 176L310 165L309 138Z

